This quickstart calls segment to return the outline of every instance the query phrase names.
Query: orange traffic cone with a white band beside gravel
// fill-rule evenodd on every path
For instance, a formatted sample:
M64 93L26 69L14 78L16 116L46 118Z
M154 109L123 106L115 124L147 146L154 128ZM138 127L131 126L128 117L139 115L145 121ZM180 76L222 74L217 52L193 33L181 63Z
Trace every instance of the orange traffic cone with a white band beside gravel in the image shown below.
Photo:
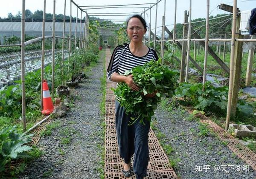
M42 114L49 115L53 112L53 104L46 80L43 81L43 98L44 110Z

